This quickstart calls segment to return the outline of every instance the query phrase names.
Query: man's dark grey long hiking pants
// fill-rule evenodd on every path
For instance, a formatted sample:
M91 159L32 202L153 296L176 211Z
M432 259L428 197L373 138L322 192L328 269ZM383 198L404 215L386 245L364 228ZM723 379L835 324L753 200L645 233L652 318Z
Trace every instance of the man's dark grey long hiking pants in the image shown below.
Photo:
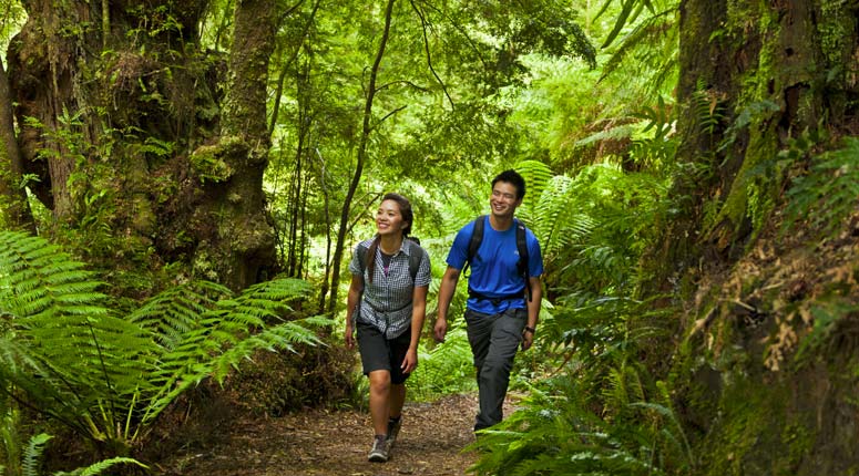
M510 371L522 331L528 323L526 309L508 309L499 314L466 311L468 341L477 368L480 411L474 431L501 422L502 405L510 384Z

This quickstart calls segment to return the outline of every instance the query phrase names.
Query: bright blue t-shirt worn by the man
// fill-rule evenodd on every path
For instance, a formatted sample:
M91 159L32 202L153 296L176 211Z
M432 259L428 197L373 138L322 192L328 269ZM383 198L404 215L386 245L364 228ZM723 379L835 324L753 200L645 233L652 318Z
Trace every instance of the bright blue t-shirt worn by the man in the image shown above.
M492 229L489 217L483 217L483 240L478 248L477 256L469 269L469 288L488 298L498 298L522 291L524 279L519 275L519 249L517 248L517 224L514 223L504 231ZM518 221L518 220L514 220ZM448 252L448 266L462 270L468 257L468 246L471 234L474 231L474 221L469 223L459 230L453 239L453 246ZM525 229L525 244L528 245L528 275L539 277L543 273L543 256L540 252L540 244L530 229ZM485 299L469 298L468 308L487 314L503 312L509 308L525 308L524 298L509 299L493 304Z

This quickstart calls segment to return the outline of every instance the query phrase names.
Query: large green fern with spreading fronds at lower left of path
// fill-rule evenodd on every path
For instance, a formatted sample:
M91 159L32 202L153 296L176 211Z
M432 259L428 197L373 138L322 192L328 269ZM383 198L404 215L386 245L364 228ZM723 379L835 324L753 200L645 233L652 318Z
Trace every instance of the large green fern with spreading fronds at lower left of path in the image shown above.
M289 302L310 290L295 279L237 296L218 284L190 283L125 319L113 315L99 286L83 265L45 240L0 232L0 381L11 385L0 391L111 447L145 435L170 403L203 379L224 379L260 349L316 345L311 329L330 323L285 319Z

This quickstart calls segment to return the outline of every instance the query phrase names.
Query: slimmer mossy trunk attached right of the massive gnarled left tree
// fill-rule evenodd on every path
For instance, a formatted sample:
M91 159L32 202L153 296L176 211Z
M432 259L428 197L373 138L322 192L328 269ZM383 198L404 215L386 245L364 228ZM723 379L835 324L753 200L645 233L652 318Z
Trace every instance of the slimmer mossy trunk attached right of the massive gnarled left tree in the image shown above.
M217 226L211 241L201 242L200 249L234 289L256 282L260 269L275 265L274 228L265 211L263 172L270 147L266 96L278 18L276 4L269 0L237 2L221 137L216 145L200 147L192 156L192 162L223 163L228 170L225 182L213 187L202 204L204 216L217 217Z

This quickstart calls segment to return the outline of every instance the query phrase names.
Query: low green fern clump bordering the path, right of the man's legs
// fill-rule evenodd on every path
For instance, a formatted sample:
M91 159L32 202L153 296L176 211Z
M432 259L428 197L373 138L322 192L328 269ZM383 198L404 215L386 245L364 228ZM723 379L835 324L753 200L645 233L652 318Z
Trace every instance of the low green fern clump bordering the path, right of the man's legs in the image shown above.
M556 320L577 358L533 387L521 410L482 434L478 475L688 474L683 427L661 382L635 360L652 330L626 322L646 303L567 299ZM575 319L571 319L575 317ZM647 319L647 318L645 318Z

